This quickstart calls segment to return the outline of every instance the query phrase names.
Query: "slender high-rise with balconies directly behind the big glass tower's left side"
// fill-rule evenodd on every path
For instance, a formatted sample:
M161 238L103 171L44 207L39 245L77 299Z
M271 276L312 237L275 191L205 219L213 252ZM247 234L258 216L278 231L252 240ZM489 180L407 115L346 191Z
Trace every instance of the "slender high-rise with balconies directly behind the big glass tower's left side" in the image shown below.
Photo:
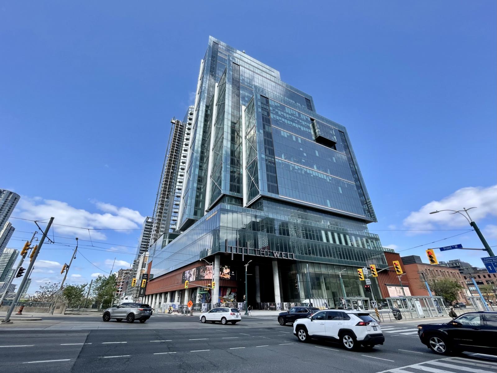
M154 206L153 245L157 239L168 232L177 230L179 201L183 190L186 160L190 147L193 106L188 107L183 120L171 119L171 131L167 143L166 158L161 173L161 182ZM169 240L177 235L171 235Z

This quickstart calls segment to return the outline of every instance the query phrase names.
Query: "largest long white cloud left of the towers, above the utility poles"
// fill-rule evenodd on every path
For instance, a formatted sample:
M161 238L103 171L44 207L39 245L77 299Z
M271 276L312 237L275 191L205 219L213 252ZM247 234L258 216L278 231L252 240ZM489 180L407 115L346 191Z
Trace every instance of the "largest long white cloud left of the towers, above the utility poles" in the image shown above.
M70 206L66 202L41 197L29 198L23 196L18 205L18 215L25 219L42 220L47 216L54 216L54 223L71 225L73 227L100 228L100 229L137 229L145 217L140 212L127 207L117 207L110 203L91 201L95 207L104 213L89 212ZM54 225L58 233L87 237L87 229ZM91 231L93 239L105 239L102 231Z

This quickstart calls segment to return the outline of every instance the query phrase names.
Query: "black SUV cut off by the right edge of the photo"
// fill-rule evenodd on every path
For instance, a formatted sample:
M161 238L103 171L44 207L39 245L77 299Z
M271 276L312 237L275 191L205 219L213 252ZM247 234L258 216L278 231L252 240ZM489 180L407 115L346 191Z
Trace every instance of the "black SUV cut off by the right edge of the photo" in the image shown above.
M497 312L468 312L444 324L421 324L417 334L435 354L462 351L497 355Z

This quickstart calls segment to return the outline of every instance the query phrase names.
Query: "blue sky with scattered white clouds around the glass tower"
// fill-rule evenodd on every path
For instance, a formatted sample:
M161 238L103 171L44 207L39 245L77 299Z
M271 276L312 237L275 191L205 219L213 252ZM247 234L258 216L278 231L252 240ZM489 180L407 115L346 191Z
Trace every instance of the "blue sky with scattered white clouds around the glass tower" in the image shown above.
M152 213L169 121L191 103L213 35L347 127L384 246L463 233L462 218L427 212L472 206L496 245L496 10L494 1L4 1L0 186L22 196L15 217L105 229L80 245L88 261L73 262L70 283L108 273L114 258L117 268L132 262L139 231L109 228L139 229ZM35 226L11 222L18 248ZM62 278L71 248L60 245L75 241L63 237L91 245L82 229L53 234L30 292ZM470 232L403 254L456 243L482 247ZM439 259L481 267L481 256Z

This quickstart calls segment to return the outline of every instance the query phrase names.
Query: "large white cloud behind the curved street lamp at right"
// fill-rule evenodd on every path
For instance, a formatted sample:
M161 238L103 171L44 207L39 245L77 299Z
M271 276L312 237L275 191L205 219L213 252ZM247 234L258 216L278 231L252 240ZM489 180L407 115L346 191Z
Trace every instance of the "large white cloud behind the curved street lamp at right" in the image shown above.
M468 221L460 214L436 210L458 210L463 207L478 207L470 210L472 219L480 220L487 216L497 216L497 185L492 187L465 187L439 201L431 201L418 211L413 211L404 219L404 226L409 229L435 229L437 227L469 227ZM464 213L464 212L463 212Z

